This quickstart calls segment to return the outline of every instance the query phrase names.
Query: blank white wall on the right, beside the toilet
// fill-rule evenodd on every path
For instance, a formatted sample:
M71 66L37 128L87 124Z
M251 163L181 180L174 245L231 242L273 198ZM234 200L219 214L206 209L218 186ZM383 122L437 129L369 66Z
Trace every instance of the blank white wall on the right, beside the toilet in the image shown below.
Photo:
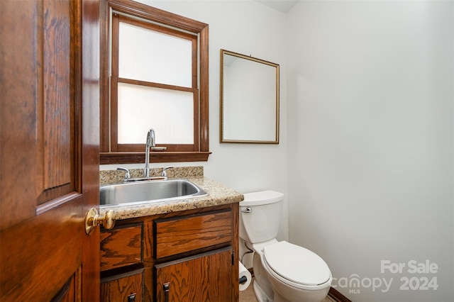
M301 1L287 14L289 240L353 301L454 301L453 11ZM427 259L436 273L408 271ZM438 289L399 289L423 277ZM379 279L390 289L368 287Z

